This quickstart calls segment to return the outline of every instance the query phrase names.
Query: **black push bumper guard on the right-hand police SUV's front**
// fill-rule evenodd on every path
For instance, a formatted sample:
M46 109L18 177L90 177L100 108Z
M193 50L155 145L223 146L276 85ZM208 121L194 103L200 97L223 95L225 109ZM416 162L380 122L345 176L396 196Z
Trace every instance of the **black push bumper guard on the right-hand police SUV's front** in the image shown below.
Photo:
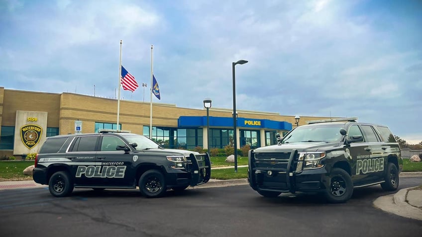
M303 160L295 161L298 155L296 149L292 150L290 157L285 161L278 161L286 163L285 167L255 167L255 158L253 150L249 151L248 162L248 181L249 185L254 190L263 191L277 191L277 192L296 192L295 175L302 172ZM296 169L294 164L297 162ZM264 180L264 175L268 180ZM284 175L284 177L283 177ZM271 179L270 179L271 178ZM271 181L274 179L273 181Z

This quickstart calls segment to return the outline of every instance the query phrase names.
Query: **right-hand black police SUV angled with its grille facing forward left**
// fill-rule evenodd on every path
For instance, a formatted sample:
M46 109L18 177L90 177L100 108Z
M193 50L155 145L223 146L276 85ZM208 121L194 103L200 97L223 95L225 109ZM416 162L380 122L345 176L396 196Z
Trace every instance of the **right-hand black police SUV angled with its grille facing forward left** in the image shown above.
M358 187L396 190L403 159L393 134L386 126L356 120L309 121L277 145L250 150L250 186L265 197L322 192L331 203L346 202Z

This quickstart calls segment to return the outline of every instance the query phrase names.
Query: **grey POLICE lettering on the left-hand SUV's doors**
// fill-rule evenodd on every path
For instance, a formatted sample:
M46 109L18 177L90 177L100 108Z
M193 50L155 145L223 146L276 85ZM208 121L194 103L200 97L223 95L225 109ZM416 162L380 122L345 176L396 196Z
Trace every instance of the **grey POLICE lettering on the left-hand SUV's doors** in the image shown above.
M79 165L76 170L76 177L82 177L85 174L87 178L124 178L124 172L126 166L101 166L101 165L90 165L84 166Z

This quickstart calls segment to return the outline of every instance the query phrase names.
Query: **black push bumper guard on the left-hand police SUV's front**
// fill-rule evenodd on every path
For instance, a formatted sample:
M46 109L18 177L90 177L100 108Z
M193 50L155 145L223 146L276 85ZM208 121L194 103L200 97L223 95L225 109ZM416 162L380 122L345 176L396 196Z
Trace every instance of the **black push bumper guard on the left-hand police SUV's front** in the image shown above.
M208 153L200 155L191 154L189 158L192 161L191 186L197 186L208 182L211 177L210 155Z

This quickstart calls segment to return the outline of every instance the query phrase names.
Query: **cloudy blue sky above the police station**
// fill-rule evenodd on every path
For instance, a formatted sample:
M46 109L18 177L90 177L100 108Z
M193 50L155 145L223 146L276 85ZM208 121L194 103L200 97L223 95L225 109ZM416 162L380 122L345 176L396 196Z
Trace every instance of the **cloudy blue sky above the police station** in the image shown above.
M0 86L358 117L422 141L421 0L0 0ZM151 45L153 45L151 62ZM148 87L142 87L146 83Z

